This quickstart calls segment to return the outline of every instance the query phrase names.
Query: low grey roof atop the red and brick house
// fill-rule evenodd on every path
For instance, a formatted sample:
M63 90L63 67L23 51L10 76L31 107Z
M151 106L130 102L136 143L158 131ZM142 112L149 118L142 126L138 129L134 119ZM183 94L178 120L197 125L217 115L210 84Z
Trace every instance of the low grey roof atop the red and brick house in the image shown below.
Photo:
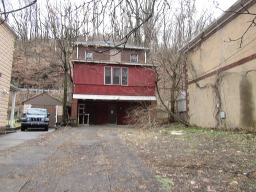
M115 42L115 41L77 41L74 42L74 44L78 45L84 45L84 46L96 46L96 47L118 47L118 48L126 48L126 49L140 49L140 50L149 50L149 48L146 47L141 47L141 46L136 46L136 45L129 45L129 44L124 44L122 42Z

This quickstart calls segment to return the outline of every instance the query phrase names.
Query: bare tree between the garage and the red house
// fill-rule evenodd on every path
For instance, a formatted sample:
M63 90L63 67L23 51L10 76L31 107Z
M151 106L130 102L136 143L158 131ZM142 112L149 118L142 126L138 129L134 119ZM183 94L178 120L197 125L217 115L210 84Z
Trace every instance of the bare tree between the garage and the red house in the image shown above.
M76 6L69 0L64 3L55 2L51 4L48 0L46 8L48 10L45 26L50 30L49 39L56 40L56 55L60 59L60 64L64 71L64 95L63 95L63 122L68 117L67 111L67 88L68 79L72 82L72 64L70 57L73 51L73 42L82 34L84 27L83 7L86 4ZM80 18L80 20L78 20Z

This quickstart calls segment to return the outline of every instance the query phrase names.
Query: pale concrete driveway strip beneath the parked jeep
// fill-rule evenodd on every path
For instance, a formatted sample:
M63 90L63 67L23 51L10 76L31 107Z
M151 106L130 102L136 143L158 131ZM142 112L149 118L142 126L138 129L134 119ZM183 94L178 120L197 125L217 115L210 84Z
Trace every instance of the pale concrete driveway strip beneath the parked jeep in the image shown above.
M48 132L53 132L54 130L49 128ZM14 133L2 134L0 135L0 150L22 144L24 141L38 138L40 135L43 136L46 133L42 129L28 129L24 132L17 130Z

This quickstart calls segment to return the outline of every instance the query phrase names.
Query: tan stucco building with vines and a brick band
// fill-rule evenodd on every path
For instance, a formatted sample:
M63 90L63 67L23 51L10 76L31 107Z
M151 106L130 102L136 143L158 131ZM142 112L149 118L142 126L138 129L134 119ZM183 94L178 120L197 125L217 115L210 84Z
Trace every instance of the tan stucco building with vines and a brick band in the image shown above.
M248 12L256 13L256 0L238 0L180 49L190 124L255 128L256 31Z

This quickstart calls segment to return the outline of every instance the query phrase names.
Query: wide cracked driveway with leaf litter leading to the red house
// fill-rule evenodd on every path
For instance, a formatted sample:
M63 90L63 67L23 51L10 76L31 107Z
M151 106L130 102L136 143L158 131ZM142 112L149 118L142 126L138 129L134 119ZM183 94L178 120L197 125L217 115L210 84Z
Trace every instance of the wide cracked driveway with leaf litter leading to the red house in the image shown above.
M119 139L122 130L61 128L1 150L0 191L164 192L154 174Z

